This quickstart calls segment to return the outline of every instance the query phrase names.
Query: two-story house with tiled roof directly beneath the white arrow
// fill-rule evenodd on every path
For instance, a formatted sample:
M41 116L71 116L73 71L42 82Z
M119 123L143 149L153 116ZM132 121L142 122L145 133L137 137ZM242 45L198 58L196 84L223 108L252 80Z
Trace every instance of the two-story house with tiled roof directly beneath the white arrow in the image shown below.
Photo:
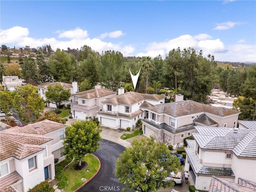
M102 102L103 110L98 112L98 120L102 126L115 129L136 126L138 119L144 119L144 109L164 103L165 97L157 94L142 94L118 90L118 95Z

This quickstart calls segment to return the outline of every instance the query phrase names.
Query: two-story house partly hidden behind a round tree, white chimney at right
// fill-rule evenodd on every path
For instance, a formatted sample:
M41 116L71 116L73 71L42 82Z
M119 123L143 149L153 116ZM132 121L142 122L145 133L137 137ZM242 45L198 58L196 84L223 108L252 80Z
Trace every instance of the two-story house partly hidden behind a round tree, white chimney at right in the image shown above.
M45 92L47 91L48 86L55 86L55 85L61 85L64 89L70 90L70 98L68 102L64 102L65 106L67 106L68 103L74 102L74 95L76 92L78 92L78 86L77 82L72 82L72 84L69 83L63 83L63 82L45 82L38 85L38 95L42 97L46 101ZM56 104L53 103L47 103L47 106L56 108Z

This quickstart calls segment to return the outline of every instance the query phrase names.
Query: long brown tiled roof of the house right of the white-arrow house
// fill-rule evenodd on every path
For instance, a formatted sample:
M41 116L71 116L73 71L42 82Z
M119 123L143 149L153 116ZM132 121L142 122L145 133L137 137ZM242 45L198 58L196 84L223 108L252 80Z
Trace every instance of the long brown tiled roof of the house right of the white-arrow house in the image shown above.
M222 117L233 114L239 114L239 112L237 112L236 110L227 109L223 107L213 107L192 100L158 104L154 107L149 108L149 110L156 112L158 114L165 113L172 117L180 117L202 112L215 114Z

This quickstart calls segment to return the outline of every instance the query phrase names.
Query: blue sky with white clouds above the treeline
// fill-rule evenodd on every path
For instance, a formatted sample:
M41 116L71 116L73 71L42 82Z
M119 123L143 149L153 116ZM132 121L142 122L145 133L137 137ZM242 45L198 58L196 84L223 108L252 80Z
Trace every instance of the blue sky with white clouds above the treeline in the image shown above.
M256 62L256 1L1 1L0 44Z

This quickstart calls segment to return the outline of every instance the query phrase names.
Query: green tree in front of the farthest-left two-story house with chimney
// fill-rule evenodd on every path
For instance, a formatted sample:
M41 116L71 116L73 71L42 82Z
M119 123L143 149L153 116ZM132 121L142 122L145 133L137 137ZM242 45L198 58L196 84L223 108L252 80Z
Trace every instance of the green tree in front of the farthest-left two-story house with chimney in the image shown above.
M45 92L46 102L56 104L56 113L59 112L59 107L64 101L68 101L70 98L70 90L64 89L61 85L55 84L54 86L48 86Z

